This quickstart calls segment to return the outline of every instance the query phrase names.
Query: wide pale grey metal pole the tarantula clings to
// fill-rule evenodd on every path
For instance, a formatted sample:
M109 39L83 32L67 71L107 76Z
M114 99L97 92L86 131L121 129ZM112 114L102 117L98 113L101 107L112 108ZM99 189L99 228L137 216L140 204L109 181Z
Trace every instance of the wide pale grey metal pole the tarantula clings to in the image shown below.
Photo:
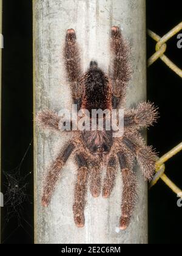
M145 0L35 0L33 1L34 113L44 107L56 111L70 107L62 46L66 30L76 30L84 68L96 59L108 71L110 28L120 26L132 48L132 80L127 107L146 99L146 1ZM67 163L48 208L41 206L42 177L55 152L67 137L40 132L35 126L35 243L147 243L147 185L138 172L138 203L129 228L118 229L121 214L120 171L109 199L88 192L86 223L73 222L76 166Z

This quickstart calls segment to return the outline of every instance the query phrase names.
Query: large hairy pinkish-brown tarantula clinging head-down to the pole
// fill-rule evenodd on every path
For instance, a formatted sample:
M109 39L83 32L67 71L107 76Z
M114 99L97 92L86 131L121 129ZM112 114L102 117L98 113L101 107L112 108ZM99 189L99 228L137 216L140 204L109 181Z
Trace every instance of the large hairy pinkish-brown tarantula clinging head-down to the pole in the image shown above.
M80 109L118 109L126 101L126 88L130 80L129 46L119 27L113 26L110 33L112 53L111 70L107 75L98 68L95 61L83 74L75 30L68 29L64 44L64 63L72 92L73 104ZM110 130L76 130L61 149L45 177L42 205L47 206L58 182L59 175L70 155L74 154L78 166L74 193L73 215L77 227L84 226L84 207L86 205L87 185L90 193L98 197L109 197L115 185L116 169L120 165L123 177L123 196L121 204L120 229L129 226L136 203L136 174L133 172L134 160L138 161L143 176L150 180L155 172L156 154L146 146L139 130L152 125L157 119L157 108L149 102L140 103L135 109L124 112L124 135L113 138ZM44 129L59 130L60 117L52 110L38 113L38 123ZM101 170L107 167L106 177L101 185Z

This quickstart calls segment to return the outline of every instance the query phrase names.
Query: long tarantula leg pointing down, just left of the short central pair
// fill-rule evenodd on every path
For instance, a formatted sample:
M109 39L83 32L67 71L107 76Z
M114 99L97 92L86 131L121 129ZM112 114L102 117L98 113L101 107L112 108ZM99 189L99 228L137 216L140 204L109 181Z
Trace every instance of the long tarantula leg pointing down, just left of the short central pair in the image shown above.
M76 155L78 164L77 181L75 186L75 199L73 204L74 220L77 227L84 226L84 207L86 205L88 166L82 154Z

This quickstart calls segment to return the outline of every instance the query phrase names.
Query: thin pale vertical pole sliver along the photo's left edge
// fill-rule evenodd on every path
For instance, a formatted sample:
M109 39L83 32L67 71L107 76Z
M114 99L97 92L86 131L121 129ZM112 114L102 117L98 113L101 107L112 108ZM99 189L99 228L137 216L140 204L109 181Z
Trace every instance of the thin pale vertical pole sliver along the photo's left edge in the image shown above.
M0 0L0 102L1 102L1 74L2 74L2 48L4 46L3 43L3 35L2 35L2 0ZM0 120L1 120L1 110L0 110ZM1 127L0 127L1 134ZM1 138L0 138L0 155L1 155ZM1 162L0 162L1 166ZM3 205L3 195L1 192L1 171L0 171L0 243L1 243L1 207Z

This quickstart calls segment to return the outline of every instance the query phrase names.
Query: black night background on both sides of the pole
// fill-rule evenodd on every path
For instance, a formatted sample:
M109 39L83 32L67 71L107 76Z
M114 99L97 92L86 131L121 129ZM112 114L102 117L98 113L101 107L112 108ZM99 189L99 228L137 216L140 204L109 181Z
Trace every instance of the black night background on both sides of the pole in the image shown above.
M147 27L160 36L166 34L181 21L180 2L148 0ZM19 169L19 185L27 184L27 197L18 218L16 212L7 218L13 208L1 209L1 243L33 243L32 1L3 1L2 33L2 171L12 174ZM154 51L155 42L147 37L147 58ZM181 52L175 36L167 43L166 55L180 68ZM181 141L181 79L157 60L147 71L147 90L149 100L160 108L160 121L149 130L148 140L163 155ZM166 163L166 174L182 187L180 159L178 154ZM4 193L5 182L2 175ZM181 244L181 213L177 195L160 180L149 191L149 243Z

